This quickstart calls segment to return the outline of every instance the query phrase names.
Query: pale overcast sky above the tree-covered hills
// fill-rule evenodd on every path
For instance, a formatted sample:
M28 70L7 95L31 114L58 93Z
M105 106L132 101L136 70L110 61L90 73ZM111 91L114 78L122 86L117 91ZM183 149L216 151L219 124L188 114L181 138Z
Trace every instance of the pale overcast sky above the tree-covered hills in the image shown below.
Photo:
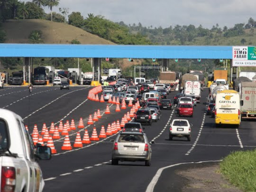
M26 0L28 1L28 0ZM221 28L233 27L236 23L256 20L255 0L60 0L58 8L70 8L72 12L102 15L113 22L138 24L163 28L179 24L200 24L211 29L216 23ZM49 13L49 9L45 9Z

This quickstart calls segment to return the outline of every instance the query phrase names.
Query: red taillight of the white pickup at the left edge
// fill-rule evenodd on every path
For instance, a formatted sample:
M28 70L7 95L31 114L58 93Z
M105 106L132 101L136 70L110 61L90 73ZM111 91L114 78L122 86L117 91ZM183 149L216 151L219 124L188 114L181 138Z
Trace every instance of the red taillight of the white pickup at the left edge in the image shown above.
M16 183L16 174L14 167L2 167L1 174L1 191L14 192Z

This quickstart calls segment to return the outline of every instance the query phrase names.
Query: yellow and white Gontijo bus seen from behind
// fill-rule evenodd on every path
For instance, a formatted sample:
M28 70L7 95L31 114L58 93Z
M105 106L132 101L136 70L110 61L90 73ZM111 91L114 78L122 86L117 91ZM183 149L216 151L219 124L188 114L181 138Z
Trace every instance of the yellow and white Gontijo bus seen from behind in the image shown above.
M239 92L235 90L218 91L215 100L215 123L231 124L239 127L241 122L241 106Z

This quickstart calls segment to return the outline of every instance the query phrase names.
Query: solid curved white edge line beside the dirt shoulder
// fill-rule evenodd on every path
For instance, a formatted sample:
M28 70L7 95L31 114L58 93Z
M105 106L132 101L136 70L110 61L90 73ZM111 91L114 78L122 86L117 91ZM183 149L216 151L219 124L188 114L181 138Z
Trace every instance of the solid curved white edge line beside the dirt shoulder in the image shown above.
M164 169L168 169L174 166L179 166L179 165L183 165L183 164L190 164L190 163L207 163L207 162L220 162L221 160L216 160L216 161L200 161L200 162L189 162L189 163L177 163L171 166L166 166L166 167L162 167L160 169L157 170L156 175L154 175L153 179L151 180L151 182L148 184L148 187L146 189L146 192L153 192L154 191L154 186L157 184L157 181L159 179L159 177L161 176L162 172Z

